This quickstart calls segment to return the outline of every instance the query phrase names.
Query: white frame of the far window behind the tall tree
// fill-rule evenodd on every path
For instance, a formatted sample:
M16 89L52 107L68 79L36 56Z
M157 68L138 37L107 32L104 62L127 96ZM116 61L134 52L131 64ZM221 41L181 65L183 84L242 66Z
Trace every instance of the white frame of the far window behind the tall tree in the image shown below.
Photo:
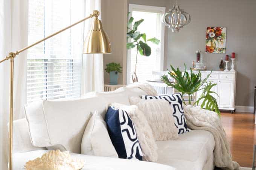
M129 4L129 15L128 17L133 16L133 11L145 11L145 12L157 12L160 14L165 14L165 7L160 6L148 6L148 5L137 5ZM128 42L131 42L131 39L128 39ZM160 58L160 70L163 71L165 55L165 25L161 24L161 58ZM131 49L127 50L127 73L126 73L126 84L130 83L131 80Z

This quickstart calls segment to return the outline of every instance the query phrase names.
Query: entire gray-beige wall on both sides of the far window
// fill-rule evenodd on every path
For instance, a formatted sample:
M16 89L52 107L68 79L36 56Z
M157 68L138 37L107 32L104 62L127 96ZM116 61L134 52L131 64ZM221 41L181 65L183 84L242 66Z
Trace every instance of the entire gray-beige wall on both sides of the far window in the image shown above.
M104 0L102 1L103 24L110 36L113 54L104 55L104 65L119 62L126 73L125 23L129 3L171 8L174 0ZM178 0L178 5L192 16L192 21L172 33L165 30L164 68L169 65L191 66L195 51L205 52L206 27L227 27L227 54L236 53L237 73L236 105L253 106L253 88L256 86L256 0ZM116 15L118 14L118 15ZM112 18L114 17L114 19ZM120 43L121 42L121 43ZM208 69L218 70L225 54L203 54ZM230 66L229 62L229 67ZM105 74L105 82L108 74ZM121 80L120 80L121 79ZM126 83L126 74L119 83Z

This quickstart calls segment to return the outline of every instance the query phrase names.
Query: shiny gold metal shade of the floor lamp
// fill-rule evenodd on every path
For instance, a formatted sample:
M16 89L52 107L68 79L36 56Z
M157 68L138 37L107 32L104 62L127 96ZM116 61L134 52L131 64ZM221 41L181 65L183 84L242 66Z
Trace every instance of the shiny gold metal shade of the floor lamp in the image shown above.
M108 35L102 28L101 20L98 19L99 11L93 11L95 16L91 30L84 41L84 54L111 53L111 45Z

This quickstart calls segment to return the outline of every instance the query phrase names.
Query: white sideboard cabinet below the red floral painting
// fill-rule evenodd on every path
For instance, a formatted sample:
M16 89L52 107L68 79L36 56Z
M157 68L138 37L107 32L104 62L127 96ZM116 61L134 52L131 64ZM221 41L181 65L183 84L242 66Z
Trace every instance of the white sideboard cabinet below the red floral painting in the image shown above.
M206 78L206 76L210 74L210 71L200 72L202 74L202 79ZM234 113L236 109L236 72L212 71L212 74L208 78L208 81L217 84L216 86L212 87L212 91L216 92L219 95L215 95L219 105L219 109L230 110L231 113ZM197 92L197 99L200 98L201 94L202 90ZM200 107L201 102L199 102L198 107Z

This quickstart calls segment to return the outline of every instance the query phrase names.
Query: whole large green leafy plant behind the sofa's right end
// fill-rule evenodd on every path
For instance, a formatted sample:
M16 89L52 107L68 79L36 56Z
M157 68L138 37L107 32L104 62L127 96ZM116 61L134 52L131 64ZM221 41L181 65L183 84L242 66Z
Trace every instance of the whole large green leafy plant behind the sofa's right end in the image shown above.
M189 73L187 72L187 67L185 64L184 66L184 72L180 71L178 67L175 69L172 65L171 71L168 70L170 77L174 78L175 80L174 83L169 80L167 75L162 76L162 81L165 82L168 86L173 87L174 89L177 89L179 92L181 92L182 101L185 105L186 102L183 98L184 94L188 95L188 104L192 104L192 95L199 90L203 90L202 95L193 105L199 104L199 102L203 100L201 108L205 107L207 110L215 111L219 115L220 112L218 104L216 99L211 95L212 93L215 93L211 91L211 88L216 86L216 84L207 83L207 79L212 72L210 72L210 74L208 74L206 78L202 80L200 71L198 73L194 73L192 69L190 69Z

